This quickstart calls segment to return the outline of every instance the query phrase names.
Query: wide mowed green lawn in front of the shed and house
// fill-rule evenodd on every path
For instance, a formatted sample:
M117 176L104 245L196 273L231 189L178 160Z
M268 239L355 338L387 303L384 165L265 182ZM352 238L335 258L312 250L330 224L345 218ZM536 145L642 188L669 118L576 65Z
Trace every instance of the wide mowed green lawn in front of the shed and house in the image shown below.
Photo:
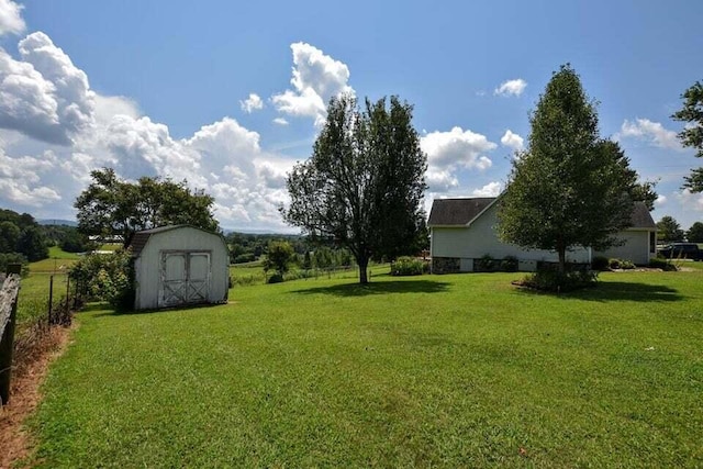
M40 467L696 467L703 272L299 280L79 315Z

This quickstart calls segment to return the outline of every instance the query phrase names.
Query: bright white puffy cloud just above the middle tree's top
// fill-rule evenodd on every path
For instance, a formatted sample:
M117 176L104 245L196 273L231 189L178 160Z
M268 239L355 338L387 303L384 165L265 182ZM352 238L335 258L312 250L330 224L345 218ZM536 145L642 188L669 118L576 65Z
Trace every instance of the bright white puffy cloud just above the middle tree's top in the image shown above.
M292 90L274 94L271 102L279 112L289 115L315 119L315 124L324 122L326 103L332 97L343 92L354 93L347 85L349 68L342 62L325 55L306 43L293 43Z

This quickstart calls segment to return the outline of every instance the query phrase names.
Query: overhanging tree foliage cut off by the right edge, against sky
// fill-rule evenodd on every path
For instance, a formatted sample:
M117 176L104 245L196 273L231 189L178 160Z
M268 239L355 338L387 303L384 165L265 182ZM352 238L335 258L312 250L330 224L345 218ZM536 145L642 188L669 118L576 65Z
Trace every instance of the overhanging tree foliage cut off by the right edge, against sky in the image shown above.
M688 125L679 133L683 146L696 149L695 156L703 157L703 83L696 81L681 94L683 108L671 115L672 119L687 122ZM683 187L691 192L703 192L703 168L691 170L691 176L684 177Z

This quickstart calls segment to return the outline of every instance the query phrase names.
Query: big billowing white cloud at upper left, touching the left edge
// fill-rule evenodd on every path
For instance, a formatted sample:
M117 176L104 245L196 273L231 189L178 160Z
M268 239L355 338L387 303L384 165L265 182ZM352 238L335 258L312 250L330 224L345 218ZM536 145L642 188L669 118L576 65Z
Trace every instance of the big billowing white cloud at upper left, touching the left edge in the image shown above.
M0 48L0 127L70 145L93 122L94 93L86 74L42 33L19 44L22 60Z

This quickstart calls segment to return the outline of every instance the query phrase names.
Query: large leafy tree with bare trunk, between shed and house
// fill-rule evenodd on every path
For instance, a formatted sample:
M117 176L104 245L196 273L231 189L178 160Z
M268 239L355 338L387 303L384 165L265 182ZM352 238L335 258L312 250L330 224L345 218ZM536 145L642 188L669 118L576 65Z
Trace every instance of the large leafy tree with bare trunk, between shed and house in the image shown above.
M333 98L310 159L288 175L283 219L313 238L347 247L367 283L369 260L410 254L422 227L427 157L412 125L412 107L391 97L360 110Z

